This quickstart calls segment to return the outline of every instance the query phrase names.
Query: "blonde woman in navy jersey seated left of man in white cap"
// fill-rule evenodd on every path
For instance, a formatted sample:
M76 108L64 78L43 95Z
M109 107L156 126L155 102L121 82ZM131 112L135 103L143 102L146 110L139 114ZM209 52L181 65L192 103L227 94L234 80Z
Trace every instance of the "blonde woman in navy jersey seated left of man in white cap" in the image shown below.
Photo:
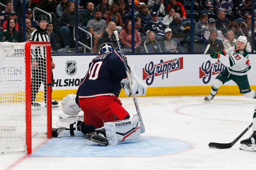
M144 52L146 53L162 53L161 47L155 39L153 31L147 32L147 40L144 42Z

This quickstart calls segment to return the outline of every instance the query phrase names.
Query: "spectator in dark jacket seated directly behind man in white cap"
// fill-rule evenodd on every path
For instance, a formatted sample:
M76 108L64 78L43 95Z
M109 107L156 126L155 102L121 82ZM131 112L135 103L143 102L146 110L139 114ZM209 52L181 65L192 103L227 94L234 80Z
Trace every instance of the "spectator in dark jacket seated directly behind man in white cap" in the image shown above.
M180 44L183 44L186 41L186 38L187 38L187 32L185 30L186 25L184 22L180 20L180 13L178 12L174 13L173 19L169 25L169 28L172 29L173 37L177 38Z

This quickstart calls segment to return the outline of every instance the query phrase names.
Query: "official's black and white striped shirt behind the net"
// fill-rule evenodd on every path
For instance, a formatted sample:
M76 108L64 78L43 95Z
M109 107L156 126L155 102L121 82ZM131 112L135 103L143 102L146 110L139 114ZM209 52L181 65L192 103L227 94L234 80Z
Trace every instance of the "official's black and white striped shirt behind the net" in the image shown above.
M50 42L50 35L39 26L34 30L30 36L29 41L48 41ZM31 57L32 59L45 58L46 57L46 48L45 47L35 47L31 48Z

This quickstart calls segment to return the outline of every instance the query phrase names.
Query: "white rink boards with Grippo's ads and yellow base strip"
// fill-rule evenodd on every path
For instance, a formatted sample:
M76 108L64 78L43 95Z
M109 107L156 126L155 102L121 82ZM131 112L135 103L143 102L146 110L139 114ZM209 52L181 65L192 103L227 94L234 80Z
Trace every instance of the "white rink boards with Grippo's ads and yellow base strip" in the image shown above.
M61 100L76 89L96 55L52 56L52 97ZM135 65L137 75L148 85L147 96L206 95L216 76L225 66L209 55L127 55L128 64ZM250 54L252 70L256 68L256 55ZM252 89L256 88L256 72L248 74ZM227 82L218 91L219 95L239 95L233 81ZM121 97L125 94L122 91Z

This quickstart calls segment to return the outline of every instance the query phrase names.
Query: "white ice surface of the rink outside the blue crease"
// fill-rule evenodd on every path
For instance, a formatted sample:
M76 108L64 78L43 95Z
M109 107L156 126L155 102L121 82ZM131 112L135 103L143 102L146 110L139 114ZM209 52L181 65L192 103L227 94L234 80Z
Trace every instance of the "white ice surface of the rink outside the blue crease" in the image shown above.
M0 169L254 169L256 153L240 151L240 140L232 148L224 150L210 149L208 144L232 142L252 122L255 100L243 96L216 96L210 104L204 104L203 99L204 96L138 98L146 128L141 137L181 140L191 146L186 151L154 157L146 154L145 157L31 157L25 152L0 154ZM120 100L133 115L132 98ZM59 107L52 109L53 127L61 113L59 102ZM241 140L251 133L250 129ZM33 138L32 152L46 142L46 138ZM75 140L69 145L75 149L81 147ZM116 150L115 147L113 149Z

